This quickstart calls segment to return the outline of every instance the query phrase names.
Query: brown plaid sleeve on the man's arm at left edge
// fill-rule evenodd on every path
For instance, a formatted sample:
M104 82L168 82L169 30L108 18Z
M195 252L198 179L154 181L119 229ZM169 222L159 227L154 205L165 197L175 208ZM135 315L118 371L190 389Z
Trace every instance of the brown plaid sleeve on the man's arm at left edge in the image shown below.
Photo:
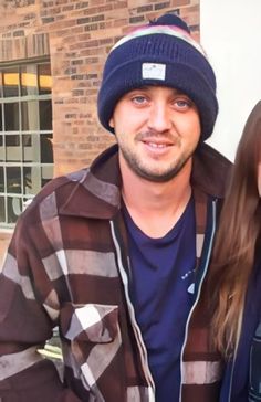
M0 274L0 400L80 402L38 352L52 336L59 299L30 237L21 220Z

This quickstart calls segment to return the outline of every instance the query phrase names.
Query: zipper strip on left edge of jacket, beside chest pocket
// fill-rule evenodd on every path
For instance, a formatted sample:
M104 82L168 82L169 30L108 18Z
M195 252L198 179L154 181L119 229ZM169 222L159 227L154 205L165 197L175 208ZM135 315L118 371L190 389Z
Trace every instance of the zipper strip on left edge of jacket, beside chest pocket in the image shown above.
M138 327L138 324L136 321L135 318L135 311L134 311L134 306L130 302L129 298L129 294L128 294L128 277L126 274L126 271L123 266L123 262L122 262L122 253L121 253L121 246L118 244L117 241L117 236L115 233L115 228L114 228L114 223L113 221L109 221L109 225L111 225L111 232L112 232L112 236L113 236L113 242L115 245L115 250L116 250L116 256L117 256L117 264L118 264L118 268L119 268L119 274L123 281L123 285L124 285L124 293L125 293L125 298L126 298L126 303L128 306L128 313L129 313L129 317L130 317L130 322L134 329L134 334L136 337L136 341L138 345L138 349L139 349L139 356L140 356L140 360L142 360L142 367L143 367L143 371L148 384L148 402L155 402L155 384L154 384L154 380L153 380L153 375L150 373L149 370L149 366L148 366L148 356L147 356L147 349L146 346L144 343L143 340L143 336L142 336L142 331Z

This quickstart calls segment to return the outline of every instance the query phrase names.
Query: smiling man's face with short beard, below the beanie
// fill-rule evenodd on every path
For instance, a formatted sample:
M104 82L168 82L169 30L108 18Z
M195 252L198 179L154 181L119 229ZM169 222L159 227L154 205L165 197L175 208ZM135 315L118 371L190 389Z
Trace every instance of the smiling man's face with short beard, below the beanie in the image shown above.
M164 86L132 91L117 103L109 120L119 160L137 176L164 182L194 154L200 137L198 110L188 96ZM126 163L125 163L126 162Z

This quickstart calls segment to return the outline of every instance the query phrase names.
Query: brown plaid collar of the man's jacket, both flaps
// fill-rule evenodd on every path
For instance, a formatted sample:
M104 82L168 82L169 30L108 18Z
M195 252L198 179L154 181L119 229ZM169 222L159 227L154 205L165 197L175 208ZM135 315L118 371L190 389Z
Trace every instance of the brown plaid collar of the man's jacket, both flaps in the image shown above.
M217 150L200 144L192 163L191 184L209 195L223 198L231 162ZM59 213L112 219L121 208L118 147L101 154L88 169L60 179L55 189ZM64 202L65 200L65 202Z

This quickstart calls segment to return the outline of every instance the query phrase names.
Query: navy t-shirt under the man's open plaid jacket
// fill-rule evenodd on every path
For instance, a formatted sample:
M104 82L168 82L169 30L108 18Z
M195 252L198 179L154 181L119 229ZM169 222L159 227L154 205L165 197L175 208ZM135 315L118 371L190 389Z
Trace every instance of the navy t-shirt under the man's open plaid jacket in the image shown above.
M133 222L126 208L132 264L130 299L148 352L156 401L178 401L180 352L194 300L196 222L192 198L175 226L152 239Z

